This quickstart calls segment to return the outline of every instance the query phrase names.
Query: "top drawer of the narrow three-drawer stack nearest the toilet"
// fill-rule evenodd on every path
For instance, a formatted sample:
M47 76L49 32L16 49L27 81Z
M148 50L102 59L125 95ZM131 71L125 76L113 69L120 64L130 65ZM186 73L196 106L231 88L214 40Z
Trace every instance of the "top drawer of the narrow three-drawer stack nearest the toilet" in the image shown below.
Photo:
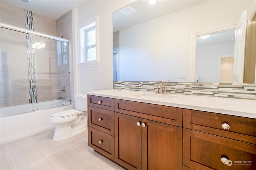
M108 97L88 95L88 106L94 106L114 111L114 99Z

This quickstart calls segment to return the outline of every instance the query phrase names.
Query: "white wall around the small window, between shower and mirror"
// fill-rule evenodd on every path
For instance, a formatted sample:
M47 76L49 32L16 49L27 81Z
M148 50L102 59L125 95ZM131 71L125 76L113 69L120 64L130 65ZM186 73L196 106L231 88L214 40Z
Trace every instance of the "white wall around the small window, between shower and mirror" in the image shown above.
M87 91L104 90L113 88L113 29L112 12L132 3L134 1L88 1L85 6L77 8L74 14L76 22L76 40L78 40L77 26L86 20L98 15L99 25L99 59L98 67L83 67L76 70L77 90L75 93L86 93ZM79 44L76 41L75 56L79 57Z

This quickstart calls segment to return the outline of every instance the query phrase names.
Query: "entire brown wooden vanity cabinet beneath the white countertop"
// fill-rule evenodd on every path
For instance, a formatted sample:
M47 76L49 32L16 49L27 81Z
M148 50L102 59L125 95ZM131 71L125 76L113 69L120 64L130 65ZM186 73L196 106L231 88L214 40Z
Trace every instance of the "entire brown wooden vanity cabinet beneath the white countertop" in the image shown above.
M128 170L255 170L256 119L88 95L88 145Z

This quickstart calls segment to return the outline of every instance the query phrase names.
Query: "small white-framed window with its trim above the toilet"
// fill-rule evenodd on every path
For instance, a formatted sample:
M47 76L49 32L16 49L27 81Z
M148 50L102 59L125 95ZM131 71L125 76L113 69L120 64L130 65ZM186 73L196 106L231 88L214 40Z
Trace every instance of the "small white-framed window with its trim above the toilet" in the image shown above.
M84 23L80 28L80 62L79 67L98 66L98 17L94 17Z

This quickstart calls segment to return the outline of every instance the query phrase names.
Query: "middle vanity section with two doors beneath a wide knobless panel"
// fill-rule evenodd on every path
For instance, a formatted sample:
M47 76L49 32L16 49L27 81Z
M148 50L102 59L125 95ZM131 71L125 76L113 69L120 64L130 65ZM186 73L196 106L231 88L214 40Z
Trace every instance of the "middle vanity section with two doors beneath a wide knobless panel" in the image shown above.
M182 109L119 99L114 107L115 162L129 170L182 169Z

